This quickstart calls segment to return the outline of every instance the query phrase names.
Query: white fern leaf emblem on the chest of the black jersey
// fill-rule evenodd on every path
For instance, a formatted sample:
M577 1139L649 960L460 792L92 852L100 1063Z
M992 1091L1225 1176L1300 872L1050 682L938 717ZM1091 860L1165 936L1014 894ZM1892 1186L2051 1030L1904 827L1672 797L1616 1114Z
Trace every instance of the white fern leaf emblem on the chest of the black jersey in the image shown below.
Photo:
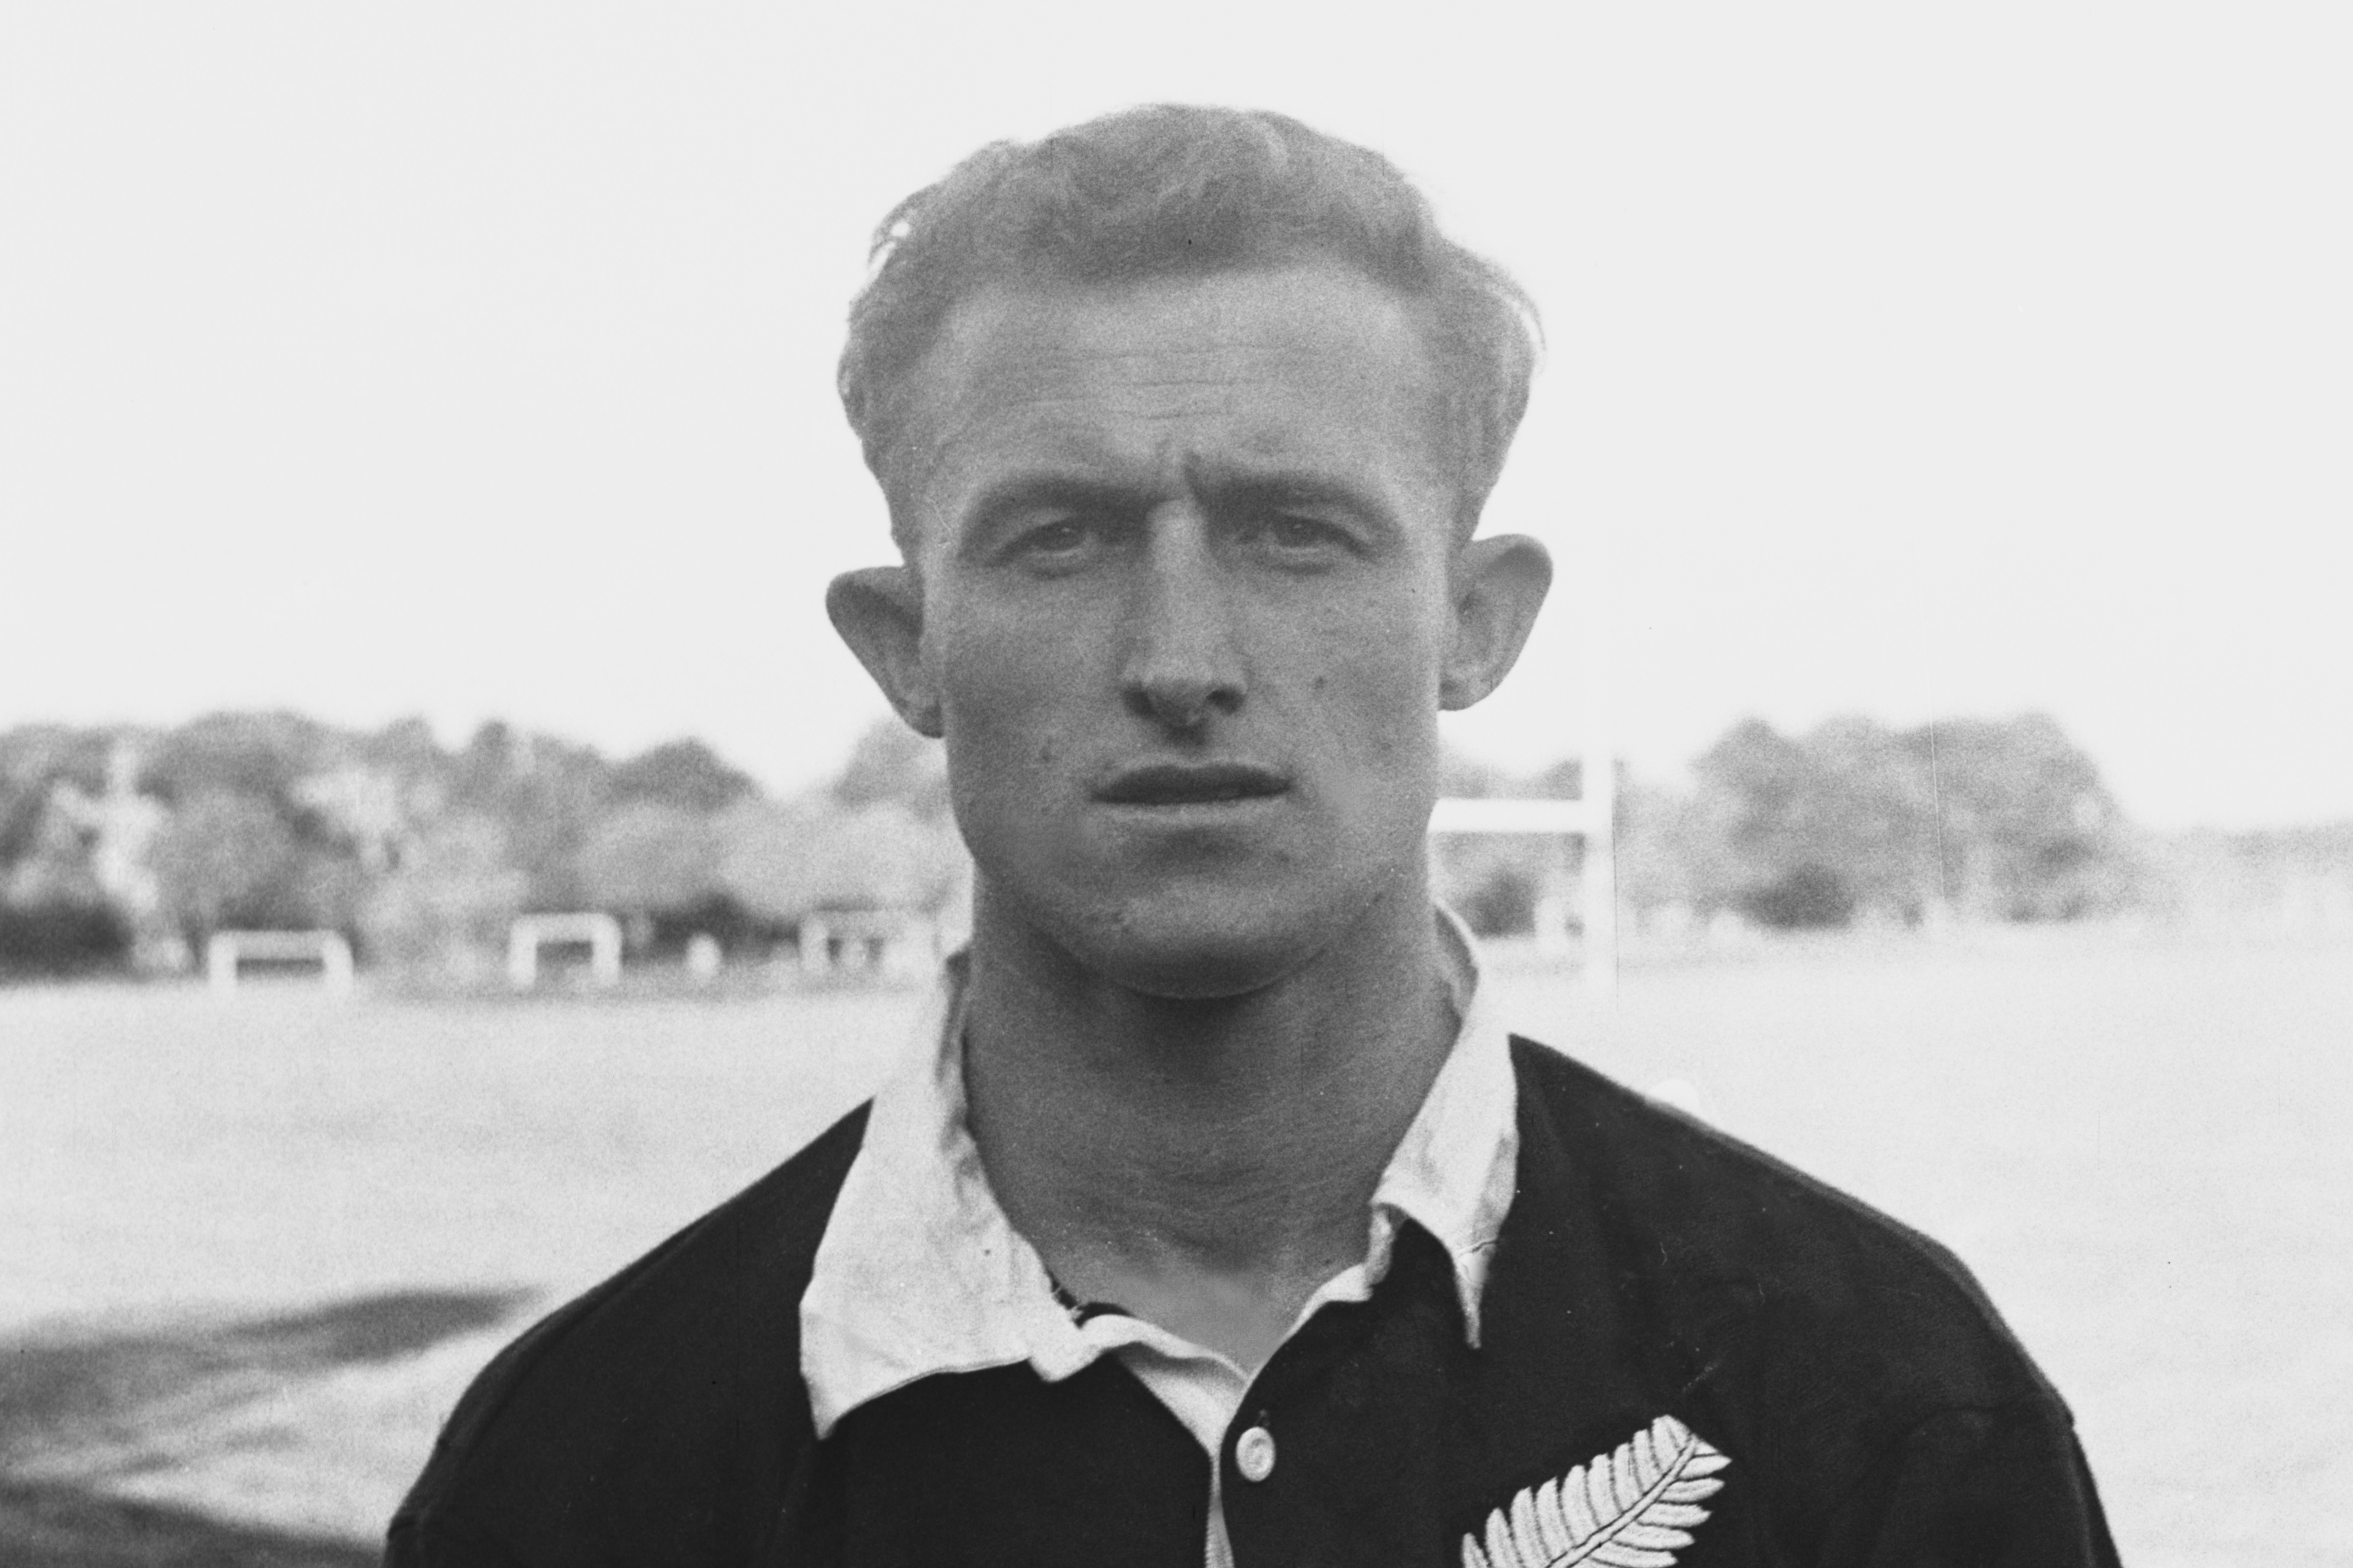
M1593 1455L1560 1481L1522 1488L1511 1509L1487 1514L1485 1547L1464 1535L1464 1568L1671 1568L1706 1523L1701 1497L1729 1464L1708 1439L1673 1415L1661 1415L1617 1446Z

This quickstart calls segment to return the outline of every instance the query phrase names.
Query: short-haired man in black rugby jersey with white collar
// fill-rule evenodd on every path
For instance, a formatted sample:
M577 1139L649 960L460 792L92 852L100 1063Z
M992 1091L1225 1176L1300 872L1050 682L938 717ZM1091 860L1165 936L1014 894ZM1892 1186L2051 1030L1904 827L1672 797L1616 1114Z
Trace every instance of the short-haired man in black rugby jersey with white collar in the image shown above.
M920 1050L475 1384L395 1563L2111 1563L1967 1271L1527 1041L1431 909L1529 311L1372 153L1148 108L908 200L842 396L944 737Z

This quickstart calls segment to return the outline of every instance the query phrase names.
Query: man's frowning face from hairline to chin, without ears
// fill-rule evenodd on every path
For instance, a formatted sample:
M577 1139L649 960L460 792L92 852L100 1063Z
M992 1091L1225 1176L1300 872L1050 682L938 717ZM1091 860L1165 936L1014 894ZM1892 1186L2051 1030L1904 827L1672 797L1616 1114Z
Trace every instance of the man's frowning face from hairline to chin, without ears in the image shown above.
M1329 266L965 301L920 666L981 909L1231 996L1424 897L1454 490L1412 308Z

